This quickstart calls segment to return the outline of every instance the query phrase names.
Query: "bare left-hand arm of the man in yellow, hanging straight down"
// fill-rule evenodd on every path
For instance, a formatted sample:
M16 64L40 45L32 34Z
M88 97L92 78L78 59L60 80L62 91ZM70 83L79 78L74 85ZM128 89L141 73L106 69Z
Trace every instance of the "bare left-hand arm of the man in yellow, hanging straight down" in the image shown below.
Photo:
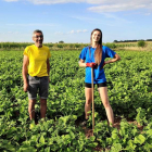
M23 58L22 76L23 76L23 83L24 83L23 89L24 89L25 92L28 89L28 81L27 81L27 74L28 74L27 67L28 67L28 64L29 64L28 56L24 55L24 58Z

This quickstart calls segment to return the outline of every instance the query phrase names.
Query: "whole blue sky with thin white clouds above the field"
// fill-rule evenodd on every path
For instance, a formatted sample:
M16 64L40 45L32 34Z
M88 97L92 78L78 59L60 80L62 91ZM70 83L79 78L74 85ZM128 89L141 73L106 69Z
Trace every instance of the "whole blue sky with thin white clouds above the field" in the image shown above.
M152 39L152 0L0 0L0 42L89 43L100 28L103 42Z

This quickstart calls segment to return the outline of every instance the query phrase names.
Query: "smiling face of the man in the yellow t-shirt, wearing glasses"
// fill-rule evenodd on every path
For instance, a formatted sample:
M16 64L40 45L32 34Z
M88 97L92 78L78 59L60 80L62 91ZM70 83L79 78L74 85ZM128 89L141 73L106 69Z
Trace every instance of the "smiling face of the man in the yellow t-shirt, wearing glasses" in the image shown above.
M35 36L33 36L33 40L35 41L36 47L41 48L43 35L41 33L35 33Z

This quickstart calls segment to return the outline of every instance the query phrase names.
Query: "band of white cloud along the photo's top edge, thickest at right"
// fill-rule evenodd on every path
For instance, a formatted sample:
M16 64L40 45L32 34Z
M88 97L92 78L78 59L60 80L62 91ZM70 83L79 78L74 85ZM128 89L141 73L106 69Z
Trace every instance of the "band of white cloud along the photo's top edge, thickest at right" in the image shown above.
M7 2L20 0L4 0ZM58 3L89 3L93 7L88 8L89 11L105 13L119 12L137 9L152 10L152 0L24 0L34 4L58 4Z

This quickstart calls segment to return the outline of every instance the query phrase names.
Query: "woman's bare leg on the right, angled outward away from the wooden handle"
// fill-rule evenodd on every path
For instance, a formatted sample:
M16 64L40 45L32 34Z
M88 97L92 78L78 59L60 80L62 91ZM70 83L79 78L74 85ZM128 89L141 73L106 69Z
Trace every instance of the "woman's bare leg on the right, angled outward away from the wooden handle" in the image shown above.
M114 114L113 114L113 110L112 110L110 102L109 102L107 87L99 87L98 90L100 93L101 101L102 101L104 109L106 111L106 116L107 116L109 123L114 125Z

